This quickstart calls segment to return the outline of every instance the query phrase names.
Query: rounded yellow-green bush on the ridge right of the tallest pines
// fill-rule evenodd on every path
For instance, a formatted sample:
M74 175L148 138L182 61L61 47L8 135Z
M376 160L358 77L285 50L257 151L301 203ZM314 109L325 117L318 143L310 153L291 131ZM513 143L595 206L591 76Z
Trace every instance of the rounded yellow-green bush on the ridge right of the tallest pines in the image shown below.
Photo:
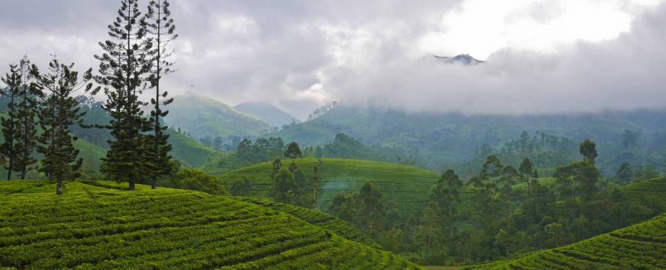
M212 195L229 194L219 178L196 169L183 168L171 181L174 188L198 190Z

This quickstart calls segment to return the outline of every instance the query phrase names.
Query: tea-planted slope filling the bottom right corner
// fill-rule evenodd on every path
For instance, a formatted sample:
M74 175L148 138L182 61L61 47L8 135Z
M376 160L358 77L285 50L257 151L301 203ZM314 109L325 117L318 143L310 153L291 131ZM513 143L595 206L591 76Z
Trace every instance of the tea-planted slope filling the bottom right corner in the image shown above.
M666 269L666 215L557 249L466 269Z

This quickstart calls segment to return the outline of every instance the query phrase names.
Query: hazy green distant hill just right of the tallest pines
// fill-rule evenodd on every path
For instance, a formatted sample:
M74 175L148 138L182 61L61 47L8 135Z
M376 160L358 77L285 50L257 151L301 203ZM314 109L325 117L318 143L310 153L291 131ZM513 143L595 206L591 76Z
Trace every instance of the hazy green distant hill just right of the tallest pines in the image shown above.
M243 114L236 109L210 98L187 93L176 96L176 102L169 105L169 115L165 121L173 127L180 127L196 138L220 136L258 136L267 132L268 124Z

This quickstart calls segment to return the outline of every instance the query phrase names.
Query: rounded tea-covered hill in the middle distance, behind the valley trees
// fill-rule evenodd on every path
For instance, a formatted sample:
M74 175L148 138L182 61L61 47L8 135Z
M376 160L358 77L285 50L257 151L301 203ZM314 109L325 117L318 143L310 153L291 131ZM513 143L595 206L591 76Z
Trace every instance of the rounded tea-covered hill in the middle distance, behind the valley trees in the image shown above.
M283 165L291 161L282 161ZM311 178L314 165L320 165L321 197L319 209L327 209L334 195L339 192L351 195L366 181L372 182L382 191L384 199L398 201L401 211L420 211L425 207L429 190L439 175L435 172L395 163L360 161L354 159L297 159L296 164ZM225 172L221 179L230 185L235 179L248 177L252 183L249 194L253 197L268 197L271 190L272 161Z

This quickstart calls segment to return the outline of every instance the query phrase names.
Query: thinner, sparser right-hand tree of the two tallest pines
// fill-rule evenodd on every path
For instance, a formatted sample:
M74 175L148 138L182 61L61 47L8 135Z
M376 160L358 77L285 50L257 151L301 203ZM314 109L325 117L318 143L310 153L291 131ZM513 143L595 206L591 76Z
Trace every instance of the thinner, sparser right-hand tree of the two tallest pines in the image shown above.
M148 33L153 39L155 44L154 49L151 51L153 69L151 75L148 77L151 82L151 87L155 89L155 98L151 99L153 111L151 111L151 123L153 125L153 134L146 136L146 146L151 149L147 150L147 160L150 162L150 169L148 173L151 177L151 187L155 188L155 182L159 177L169 174L169 151L171 145L168 143L169 134L164 134L167 126L162 125L160 118L164 118L169 114L169 111L162 111L160 106L167 106L173 102L173 98L167 99L167 91L160 91L160 80L162 75L173 73L172 62L169 62L169 57L173 51L167 51L169 42L176 39L178 35L174 34L176 25L171 19L171 10L169 10L169 1L164 0L161 3L158 1L151 1L148 3L148 12L142 21L147 26ZM163 100L160 100L163 98Z

